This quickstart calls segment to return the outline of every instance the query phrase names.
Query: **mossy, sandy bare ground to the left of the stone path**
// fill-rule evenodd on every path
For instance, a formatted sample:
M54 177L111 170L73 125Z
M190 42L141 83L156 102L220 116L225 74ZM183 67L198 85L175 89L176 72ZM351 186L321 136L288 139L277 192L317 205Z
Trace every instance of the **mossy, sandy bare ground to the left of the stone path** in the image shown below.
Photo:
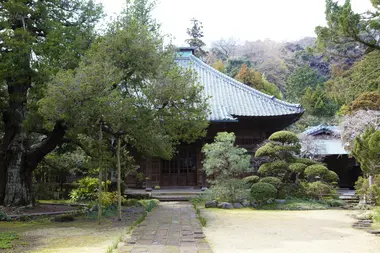
M143 207L123 210L123 220L103 218L98 225L96 218L79 217L72 222L0 222L1 232L15 232L20 239L14 248L0 252L10 253L104 253L107 248L133 224L144 212Z

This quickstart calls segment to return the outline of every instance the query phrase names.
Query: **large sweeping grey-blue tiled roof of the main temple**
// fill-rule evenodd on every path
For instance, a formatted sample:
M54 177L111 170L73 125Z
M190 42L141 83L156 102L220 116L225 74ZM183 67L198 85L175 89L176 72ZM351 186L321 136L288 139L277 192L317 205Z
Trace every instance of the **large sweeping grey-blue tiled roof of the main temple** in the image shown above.
M204 87L211 114L210 121L237 121L238 116L265 117L301 115L302 106L284 102L255 90L215 70L191 54L179 54L179 66L192 68Z

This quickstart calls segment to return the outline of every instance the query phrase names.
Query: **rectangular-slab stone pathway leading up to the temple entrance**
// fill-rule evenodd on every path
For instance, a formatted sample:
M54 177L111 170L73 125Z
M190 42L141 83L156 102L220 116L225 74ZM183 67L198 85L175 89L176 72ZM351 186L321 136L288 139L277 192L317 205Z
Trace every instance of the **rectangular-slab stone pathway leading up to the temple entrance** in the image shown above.
M212 253L212 250L189 202L161 202L118 252Z

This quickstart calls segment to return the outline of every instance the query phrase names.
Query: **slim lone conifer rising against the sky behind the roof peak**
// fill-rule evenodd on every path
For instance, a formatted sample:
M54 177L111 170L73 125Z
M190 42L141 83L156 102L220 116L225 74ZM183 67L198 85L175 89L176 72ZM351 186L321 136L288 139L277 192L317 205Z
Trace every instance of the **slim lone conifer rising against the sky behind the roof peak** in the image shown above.
M192 26L187 28L187 34L190 36L185 42L191 47L195 47L195 55L200 59L204 59L207 56L207 52L203 49L206 43L203 42L203 25L202 22L193 18L191 20Z

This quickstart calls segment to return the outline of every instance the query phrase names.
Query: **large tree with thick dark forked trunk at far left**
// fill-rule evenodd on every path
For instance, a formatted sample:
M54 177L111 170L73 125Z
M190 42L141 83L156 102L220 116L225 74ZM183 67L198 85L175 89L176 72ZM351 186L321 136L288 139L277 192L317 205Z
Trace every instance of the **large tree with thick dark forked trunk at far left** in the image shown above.
M35 102L51 75L78 65L100 17L100 6L91 0L0 2L0 204L32 202L32 172L66 131L63 121L43 129Z

